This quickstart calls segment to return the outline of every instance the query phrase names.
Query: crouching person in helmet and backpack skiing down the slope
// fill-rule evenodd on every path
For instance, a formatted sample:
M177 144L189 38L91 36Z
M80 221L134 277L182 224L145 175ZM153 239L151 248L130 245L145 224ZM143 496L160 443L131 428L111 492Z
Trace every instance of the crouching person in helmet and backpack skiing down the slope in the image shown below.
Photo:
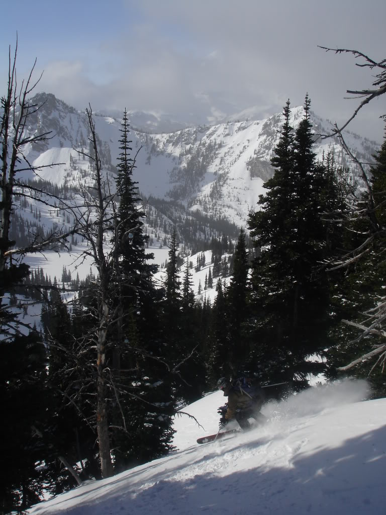
M264 402L264 394L258 385L244 378L230 381L221 377L217 386L228 398L225 406L221 406L218 413L221 414L220 426L223 427L231 420L236 420L242 429L251 428L254 423L249 422L253 418L258 424L266 421L266 417L260 413Z

